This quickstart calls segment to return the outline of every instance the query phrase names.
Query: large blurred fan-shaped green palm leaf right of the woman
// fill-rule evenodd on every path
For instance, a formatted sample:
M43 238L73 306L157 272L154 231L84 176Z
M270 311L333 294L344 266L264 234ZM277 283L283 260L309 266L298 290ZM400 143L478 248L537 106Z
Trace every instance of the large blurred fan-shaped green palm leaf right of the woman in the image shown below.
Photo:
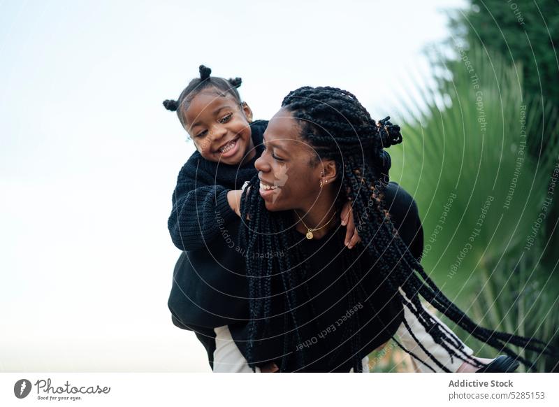
M557 112L523 99L515 66L477 47L464 56L442 90L423 92L424 113L403 113L405 141L391 149L391 178L423 218L423 264L455 294L477 269L527 244L559 161ZM533 136L542 115L555 127ZM549 148L528 154L544 138Z

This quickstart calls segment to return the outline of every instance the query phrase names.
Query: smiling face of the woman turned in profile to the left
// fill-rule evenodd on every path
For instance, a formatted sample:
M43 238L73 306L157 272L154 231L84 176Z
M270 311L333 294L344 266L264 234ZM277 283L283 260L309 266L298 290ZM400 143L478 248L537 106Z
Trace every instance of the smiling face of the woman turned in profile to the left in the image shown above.
M317 200L322 165L313 148L300 138L300 125L281 109L268 123L259 171L260 196L268 210L308 210ZM313 164L315 163L315 164Z

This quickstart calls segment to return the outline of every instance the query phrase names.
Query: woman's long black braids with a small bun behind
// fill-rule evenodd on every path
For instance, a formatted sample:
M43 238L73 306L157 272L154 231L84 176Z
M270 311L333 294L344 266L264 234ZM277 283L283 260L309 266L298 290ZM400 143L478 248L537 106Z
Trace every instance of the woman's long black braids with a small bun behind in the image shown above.
M400 127L391 124L388 121L389 117L377 124L353 94L333 87L300 87L284 98L282 108L289 110L300 122L300 137L303 141L307 141L321 159L335 161L340 187L335 206L340 208L345 201L352 202L354 222L359 225L358 234L375 264L374 272L379 273L379 277L386 281L398 301L418 318L426 331L433 336L435 343L447 350L451 358L457 357L477 367L484 366L477 359L467 355L463 343L426 312L421 305L420 294L472 336L518 359L530 369L533 369L532 363L506 348L505 343L539 353L556 354L548 344L538 339L492 331L474 323L444 296L423 270L419 260L409 252L390 220L383 199L388 181L387 171L383 173L383 169L386 169L383 148L402 141ZM280 369L303 370L306 362L304 352L292 352L297 343L303 342L299 330L300 320L296 312L297 304L301 300L297 298L294 288L302 285L308 295L305 282L307 262L305 255L296 245L300 236L296 235L295 228L290 227L293 224L291 211L268 212L263 199L259 197L258 183L259 178L256 176L250 181L251 188L245 189L241 201L241 218L249 219L248 227L242 229L241 235L247 247L251 314L247 359L254 369L254 341L265 337L268 329L265 321L270 317L271 278L273 271L277 271L282 280L283 306L286 311L283 327L284 357ZM365 210L366 208L369 209ZM360 222L365 219L366 222ZM337 235L339 247L344 248L344 236ZM289 255L269 258L249 255L250 252L271 252L278 247L289 249ZM344 279L349 292L346 296L349 309L358 301L363 301L365 290L358 282L368 272L370 264L362 264L360 258L363 256L358 256L355 250L343 250L342 258L345 266ZM308 298L303 299L305 300ZM368 301L364 300L363 304L365 303ZM372 306L370 303L368 305ZM312 312L316 315L314 310ZM351 318L350 323L347 337L351 347L351 366L354 372L357 372L362 370L358 353L363 345L358 332L360 327L357 318ZM415 338L405 320L404 324ZM444 371L449 371L421 343L419 346L434 364ZM418 359L402 345L400 347ZM293 353L296 355L293 356ZM430 364L424 364L435 370Z

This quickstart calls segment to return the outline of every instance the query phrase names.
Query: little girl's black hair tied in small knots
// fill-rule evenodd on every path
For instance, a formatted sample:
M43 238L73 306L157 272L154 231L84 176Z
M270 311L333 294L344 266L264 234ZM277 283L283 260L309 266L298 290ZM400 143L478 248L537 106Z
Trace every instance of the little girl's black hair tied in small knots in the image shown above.
M213 87L215 90L220 91L222 96L230 94L235 100L240 104L242 103L240 99L239 92L237 90L240 87L242 80L241 78L219 78L217 76L210 76L212 70L208 66L201 65L199 68L200 78L194 78L190 81L187 87L181 92L179 99L170 100L166 99L163 102L163 106L167 110L176 111L179 117L180 123L184 127L184 110L188 107L188 103L196 94L200 93L202 90L208 87Z

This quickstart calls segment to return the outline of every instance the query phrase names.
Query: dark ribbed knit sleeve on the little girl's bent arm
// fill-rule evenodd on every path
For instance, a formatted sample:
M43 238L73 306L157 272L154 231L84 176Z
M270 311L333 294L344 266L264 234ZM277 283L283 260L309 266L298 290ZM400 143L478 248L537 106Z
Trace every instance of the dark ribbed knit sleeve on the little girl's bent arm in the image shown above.
M200 186L191 167L187 163L179 173L167 222L170 237L180 250L206 247L219 236L220 225L237 216L227 201L229 190L215 184Z

